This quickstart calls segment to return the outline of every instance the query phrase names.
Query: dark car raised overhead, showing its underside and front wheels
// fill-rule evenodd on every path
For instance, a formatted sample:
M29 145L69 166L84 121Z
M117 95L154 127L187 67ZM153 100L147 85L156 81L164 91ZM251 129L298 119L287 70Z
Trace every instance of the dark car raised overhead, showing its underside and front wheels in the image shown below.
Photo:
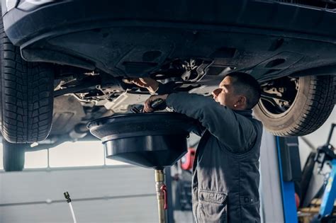
M226 74L250 74L262 88L254 114L280 136L313 132L335 106L333 1L1 6L1 132L11 144L92 139L88 122L150 96L131 83L139 77L211 96Z

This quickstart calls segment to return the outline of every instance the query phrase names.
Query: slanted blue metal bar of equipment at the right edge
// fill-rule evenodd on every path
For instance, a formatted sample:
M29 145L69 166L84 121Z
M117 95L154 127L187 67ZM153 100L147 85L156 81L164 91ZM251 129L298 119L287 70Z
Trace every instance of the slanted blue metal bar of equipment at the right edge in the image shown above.
M336 198L336 159L331 161L332 169L323 193L320 207L320 217L327 217L332 214Z

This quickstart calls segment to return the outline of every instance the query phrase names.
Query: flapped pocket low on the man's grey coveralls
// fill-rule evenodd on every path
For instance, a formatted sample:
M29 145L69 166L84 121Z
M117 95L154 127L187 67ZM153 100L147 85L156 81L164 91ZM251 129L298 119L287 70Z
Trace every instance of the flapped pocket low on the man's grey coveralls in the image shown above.
M227 193L199 190L197 222L228 222L227 199Z

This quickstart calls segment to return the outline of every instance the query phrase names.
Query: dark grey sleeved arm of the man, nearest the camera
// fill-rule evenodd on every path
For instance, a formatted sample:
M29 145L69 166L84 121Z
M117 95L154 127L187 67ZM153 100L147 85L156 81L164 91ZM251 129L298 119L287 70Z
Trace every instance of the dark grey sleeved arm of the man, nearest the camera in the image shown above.
M167 106L199 120L212 135L234 153L248 151L257 137L252 121L230 108L194 93L172 93Z

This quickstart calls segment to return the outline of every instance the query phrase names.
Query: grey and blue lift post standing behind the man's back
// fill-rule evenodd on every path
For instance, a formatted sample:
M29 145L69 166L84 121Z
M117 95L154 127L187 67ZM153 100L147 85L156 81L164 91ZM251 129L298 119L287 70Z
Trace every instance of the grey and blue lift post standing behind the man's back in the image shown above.
M297 137L274 137L264 130L260 148L262 222L298 222L294 181L301 179Z

